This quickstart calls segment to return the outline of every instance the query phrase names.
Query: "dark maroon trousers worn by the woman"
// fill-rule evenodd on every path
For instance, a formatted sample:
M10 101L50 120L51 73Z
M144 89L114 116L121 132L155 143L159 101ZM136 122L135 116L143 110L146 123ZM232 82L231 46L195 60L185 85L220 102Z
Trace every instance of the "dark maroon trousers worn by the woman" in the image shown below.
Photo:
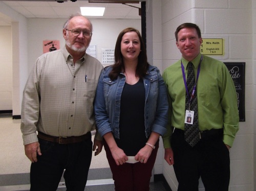
M156 143L156 148L153 149L151 156L146 163L124 163L117 165L108 144L103 141L106 151L106 157L108 158L110 168L113 174L113 180L115 181L116 191L149 191L150 190L150 178L152 170L157 157L157 150L159 148L159 141Z

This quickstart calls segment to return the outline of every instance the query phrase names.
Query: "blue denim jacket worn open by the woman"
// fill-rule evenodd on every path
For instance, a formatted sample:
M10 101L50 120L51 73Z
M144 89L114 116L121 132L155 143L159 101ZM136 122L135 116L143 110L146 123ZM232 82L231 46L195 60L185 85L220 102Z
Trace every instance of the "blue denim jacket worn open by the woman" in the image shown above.
M120 73L112 81L109 73L112 67L105 67L99 77L94 109L97 130L101 136L112 132L119 139L120 100L125 76ZM149 65L147 75L143 78L145 87L145 135L148 138L152 131L163 135L167 124L167 92L159 69Z

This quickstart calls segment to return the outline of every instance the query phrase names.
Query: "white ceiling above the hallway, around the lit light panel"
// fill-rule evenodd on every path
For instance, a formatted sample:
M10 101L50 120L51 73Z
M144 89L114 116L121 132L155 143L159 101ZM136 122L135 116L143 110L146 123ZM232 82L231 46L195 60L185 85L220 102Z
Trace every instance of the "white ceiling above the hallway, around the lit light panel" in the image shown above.
M56 0L30 0L30 1L2 1L7 6L24 15L27 18L68 18L71 14L80 12L80 7L105 7L103 16L93 16L88 18L108 18L108 19L140 19L139 4L106 4L89 3L88 0L62 0L63 3L57 3ZM11 19L0 13L0 26L11 25Z

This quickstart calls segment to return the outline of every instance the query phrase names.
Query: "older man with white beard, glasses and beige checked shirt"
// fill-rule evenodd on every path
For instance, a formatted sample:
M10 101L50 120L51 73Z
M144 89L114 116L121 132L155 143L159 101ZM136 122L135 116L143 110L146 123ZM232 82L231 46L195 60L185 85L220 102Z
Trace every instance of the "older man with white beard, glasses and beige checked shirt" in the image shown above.
M92 159L102 149L93 101L101 63L86 54L92 23L81 14L63 26L66 45L36 60L23 92L21 130L30 159L30 190L56 190L65 173L67 190L84 190Z

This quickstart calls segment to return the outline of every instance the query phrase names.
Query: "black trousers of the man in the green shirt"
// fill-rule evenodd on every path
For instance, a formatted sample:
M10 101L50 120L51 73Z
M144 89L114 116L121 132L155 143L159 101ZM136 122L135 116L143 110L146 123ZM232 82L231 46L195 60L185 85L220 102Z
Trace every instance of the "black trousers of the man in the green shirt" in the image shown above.
M172 148L179 191L198 190L200 176L206 191L228 190L230 160L222 136L202 138L191 148L184 140L184 131L175 129Z

